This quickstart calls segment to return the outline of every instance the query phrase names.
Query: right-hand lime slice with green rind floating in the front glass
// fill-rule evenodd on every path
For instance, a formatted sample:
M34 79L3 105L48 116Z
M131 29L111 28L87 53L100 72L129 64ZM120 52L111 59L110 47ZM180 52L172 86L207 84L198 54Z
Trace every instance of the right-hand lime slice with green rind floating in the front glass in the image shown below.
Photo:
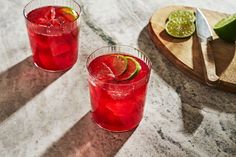
M116 77L117 81L125 81L132 79L141 70L141 66L139 62L136 61L135 58L127 56L125 58L128 61L126 71L122 75Z

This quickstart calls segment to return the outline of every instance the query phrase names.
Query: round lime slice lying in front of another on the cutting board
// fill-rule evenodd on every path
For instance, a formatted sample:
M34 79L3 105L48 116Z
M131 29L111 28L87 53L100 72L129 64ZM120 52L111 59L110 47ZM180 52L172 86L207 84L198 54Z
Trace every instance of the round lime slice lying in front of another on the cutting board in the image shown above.
M165 26L166 32L176 38L186 38L195 32L195 25L190 21L170 20Z

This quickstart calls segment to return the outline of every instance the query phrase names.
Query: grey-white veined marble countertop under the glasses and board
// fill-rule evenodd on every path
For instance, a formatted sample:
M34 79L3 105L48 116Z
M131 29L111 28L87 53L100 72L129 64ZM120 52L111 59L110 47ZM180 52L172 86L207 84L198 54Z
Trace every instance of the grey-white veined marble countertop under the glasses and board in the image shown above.
M65 73L32 64L22 9L28 0L0 0L0 157L233 157L236 95L179 72L151 42L146 25L168 5L225 13L233 0L81 0L80 52ZM125 44L153 62L143 120L110 133L90 119L85 61L98 47Z

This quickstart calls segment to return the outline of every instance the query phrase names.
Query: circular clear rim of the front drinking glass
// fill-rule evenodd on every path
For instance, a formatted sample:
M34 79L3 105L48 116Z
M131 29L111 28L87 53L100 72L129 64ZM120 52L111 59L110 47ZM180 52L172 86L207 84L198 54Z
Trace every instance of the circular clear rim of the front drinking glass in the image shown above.
M111 83L111 82L105 82L105 81L102 81L102 80L99 80L99 79L97 79L96 77L94 77L90 72L89 72L89 58L95 53L95 52L97 52L98 50L101 50L101 49L103 49L103 48L108 48L108 47L112 47L112 46L115 46L115 47L127 47L127 48L131 48L131 49L134 49L134 50L136 50L136 51L139 51L139 52L141 52L146 58L147 58L147 60L148 60L148 62L149 62L149 64L147 64L145 61L145 64L147 64L147 66L148 66L148 69L149 69L149 72L148 72L148 74L147 75L145 75L142 79L140 79L140 80L137 80L137 81L134 81L134 82L131 82L131 83L121 83L121 84L117 84L117 83ZM115 52L114 52L115 53ZM128 52L127 52L127 54L128 54ZM136 57L136 56L135 56ZM139 58L139 57L137 57L137 58ZM139 58L140 59L140 58ZM142 59L141 59L142 60ZM142 60L143 61L143 60ZM91 62L90 62L91 63ZM88 57L87 57L87 61L86 61L86 69L87 69L87 71L88 71L88 73L89 73L89 76L91 77L91 78L93 78L94 80L96 80L96 81L98 81L98 82L102 82L103 84L108 84L108 85L117 85L117 86L127 86L127 85L133 85L133 84L138 84L138 83L140 83L140 82L142 82L142 81L144 81L144 80L146 80L146 79L148 79L149 77L150 77L150 74L151 74L151 69L152 69L152 62L151 62L151 60L149 59L149 57L144 53L144 51L142 51L142 50L140 50L140 49L138 49L138 48L135 48L135 47L132 47L132 46L129 46L129 45L107 45L107 46L102 46L102 47L100 47L100 48L97 48L96 50L94 50Z

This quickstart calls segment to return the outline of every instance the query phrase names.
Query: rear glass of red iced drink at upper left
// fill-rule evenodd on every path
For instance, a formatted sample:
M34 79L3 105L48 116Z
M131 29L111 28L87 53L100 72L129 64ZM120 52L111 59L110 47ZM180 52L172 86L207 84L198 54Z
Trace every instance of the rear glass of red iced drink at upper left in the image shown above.
M24 16L34 64L65 71L77 61L81 8L73 0L32 0Z

